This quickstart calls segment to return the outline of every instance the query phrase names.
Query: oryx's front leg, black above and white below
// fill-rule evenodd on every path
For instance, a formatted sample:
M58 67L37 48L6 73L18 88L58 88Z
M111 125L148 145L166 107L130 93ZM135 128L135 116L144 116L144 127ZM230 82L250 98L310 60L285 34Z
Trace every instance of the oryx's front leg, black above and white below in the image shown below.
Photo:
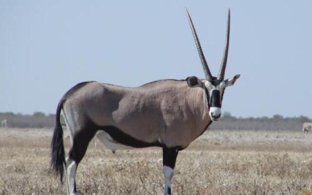
M174 176L177 154L176 148L162 148L162 165L165 176L164 195L171 195L171 179Z

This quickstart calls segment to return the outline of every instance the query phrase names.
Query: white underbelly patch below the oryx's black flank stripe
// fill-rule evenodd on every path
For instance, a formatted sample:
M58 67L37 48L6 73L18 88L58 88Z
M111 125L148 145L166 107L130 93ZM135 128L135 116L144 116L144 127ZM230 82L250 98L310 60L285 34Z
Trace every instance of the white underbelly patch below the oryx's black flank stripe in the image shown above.
M115 152L116 150L131 150L136 149L131 146L126 146L116 142L108 133L104 131L98 131L96 137L110 150Z

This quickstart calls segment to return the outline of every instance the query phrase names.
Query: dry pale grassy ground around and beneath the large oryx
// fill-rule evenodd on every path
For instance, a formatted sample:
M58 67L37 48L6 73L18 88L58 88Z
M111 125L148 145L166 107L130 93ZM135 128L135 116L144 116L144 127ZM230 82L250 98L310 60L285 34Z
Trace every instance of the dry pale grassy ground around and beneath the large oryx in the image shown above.
M50 129L0 128L0 195L66 193L49 169L51 136ZM89 148L78 167L79 194L162 194L160 149ZM173 178L173 195L312 195L310 188L312 134L301 132L208 131L179 153Z

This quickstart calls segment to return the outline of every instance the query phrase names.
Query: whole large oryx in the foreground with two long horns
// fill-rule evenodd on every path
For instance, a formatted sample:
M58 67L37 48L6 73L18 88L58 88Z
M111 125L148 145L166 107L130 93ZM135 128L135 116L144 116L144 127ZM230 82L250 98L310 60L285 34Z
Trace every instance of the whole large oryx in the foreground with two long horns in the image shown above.
M76 171L90 140L96 136L106 147L119 149L161 147L164 195L171 195L178 152L202 135L220 118L225 88L240 75L224 79L230 38L230 10L223 59L213 77L201 49L192 19L188 20L206 79L157 80L139 87L122 87L96 81L82 82L60 99L51 149L51 166L62 180L66 166L67 194L76 195ZM65 159L60 112L70 135Z

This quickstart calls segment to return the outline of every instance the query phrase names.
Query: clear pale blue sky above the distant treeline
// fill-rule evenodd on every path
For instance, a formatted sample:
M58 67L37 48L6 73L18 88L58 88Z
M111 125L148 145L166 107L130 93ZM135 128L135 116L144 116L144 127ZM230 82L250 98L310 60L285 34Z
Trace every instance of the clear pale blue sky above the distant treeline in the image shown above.
M204 78L188 8L213 74L228 8L231 38L222 110L312 117L312 1L0 0L0 112L55 113L81 81L138 86Z

